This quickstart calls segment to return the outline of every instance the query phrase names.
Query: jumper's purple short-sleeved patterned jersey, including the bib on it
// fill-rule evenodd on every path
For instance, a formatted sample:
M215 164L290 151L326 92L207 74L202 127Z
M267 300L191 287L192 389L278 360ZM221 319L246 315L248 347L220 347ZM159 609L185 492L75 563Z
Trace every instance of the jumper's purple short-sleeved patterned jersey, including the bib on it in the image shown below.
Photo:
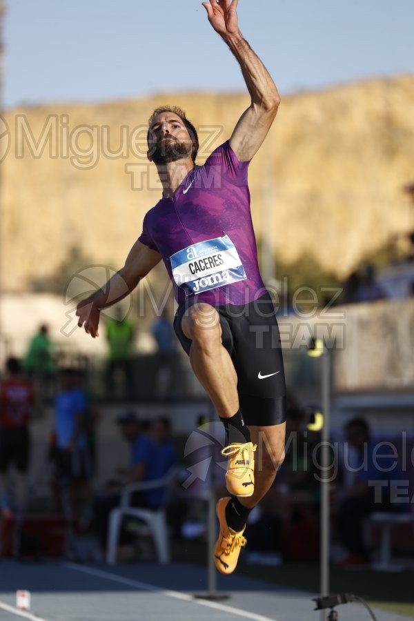
M249 304L266 291L250 214L248 164L226 141L144 218L139 242L163 258L179 304L195 296L213 306Z

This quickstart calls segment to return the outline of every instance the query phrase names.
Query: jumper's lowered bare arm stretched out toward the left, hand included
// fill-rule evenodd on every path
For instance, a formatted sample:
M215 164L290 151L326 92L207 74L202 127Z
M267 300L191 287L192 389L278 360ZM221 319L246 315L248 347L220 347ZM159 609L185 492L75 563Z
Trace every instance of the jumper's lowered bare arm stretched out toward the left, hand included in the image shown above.
M130 249L123 268L108 280L99 290L83 299L77 305L78 326L95 338L99 336L99 314L102 308L108 308L135 289L144 278L161 261L161 255L141 242L135 242Z

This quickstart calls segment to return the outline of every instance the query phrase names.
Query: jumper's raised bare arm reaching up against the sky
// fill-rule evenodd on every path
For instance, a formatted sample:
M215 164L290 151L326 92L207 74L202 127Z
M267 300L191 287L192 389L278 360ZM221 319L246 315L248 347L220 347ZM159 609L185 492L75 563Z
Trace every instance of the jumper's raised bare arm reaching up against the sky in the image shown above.
M239 0L203 2L208 21L235 55L251 97L230 138L240 161L250 161L264 141L280 103L279 92L268 70L250 48L237 26Z

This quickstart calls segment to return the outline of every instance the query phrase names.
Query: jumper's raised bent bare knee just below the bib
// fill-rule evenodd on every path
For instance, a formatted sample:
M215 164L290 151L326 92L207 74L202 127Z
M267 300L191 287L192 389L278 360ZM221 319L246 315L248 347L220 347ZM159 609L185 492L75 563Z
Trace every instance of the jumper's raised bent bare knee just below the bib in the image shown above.
M210 304L194 304L182 321L184 334L201 348L210 349L220 342L219 314Z

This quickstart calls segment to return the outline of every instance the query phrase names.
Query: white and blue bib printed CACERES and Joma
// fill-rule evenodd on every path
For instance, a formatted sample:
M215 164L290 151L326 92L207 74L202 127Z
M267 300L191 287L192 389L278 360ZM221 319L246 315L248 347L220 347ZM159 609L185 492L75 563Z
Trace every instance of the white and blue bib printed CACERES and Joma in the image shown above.
M186 295L246 280L246 272L228 235L198 242L170 257L172 276Z

